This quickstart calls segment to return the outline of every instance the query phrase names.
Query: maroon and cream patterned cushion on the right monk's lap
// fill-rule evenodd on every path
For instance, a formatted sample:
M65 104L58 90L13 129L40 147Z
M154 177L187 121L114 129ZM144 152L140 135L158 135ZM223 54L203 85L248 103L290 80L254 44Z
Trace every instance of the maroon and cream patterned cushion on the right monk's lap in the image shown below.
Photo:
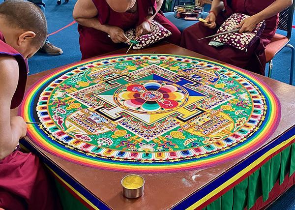
M231 17L229 17L217 30L217 33L236 29L236 26L248 17L250 16L239 13L231 15ZM252 32L234 32L215 36L212 38L212 41L209 43L209 45L220 46L223 44L228 44L239 50L247 50L247 48L255 43L257 39L259 39L261 33L265 29L265 26L265 21L262 21L256 25Z

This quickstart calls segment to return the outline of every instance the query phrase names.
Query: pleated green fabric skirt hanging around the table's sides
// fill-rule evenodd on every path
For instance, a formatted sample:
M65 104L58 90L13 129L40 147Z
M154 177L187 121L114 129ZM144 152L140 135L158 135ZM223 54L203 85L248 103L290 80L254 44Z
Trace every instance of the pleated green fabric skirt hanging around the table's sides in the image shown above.
M295 143L269 159L258 170L242 180L203 210L244 210L251 209L257 199L268 199L269 192L277 181L283 183L286 175L295 172ZM64 210L87 210L66 188L56 180L60 200Z

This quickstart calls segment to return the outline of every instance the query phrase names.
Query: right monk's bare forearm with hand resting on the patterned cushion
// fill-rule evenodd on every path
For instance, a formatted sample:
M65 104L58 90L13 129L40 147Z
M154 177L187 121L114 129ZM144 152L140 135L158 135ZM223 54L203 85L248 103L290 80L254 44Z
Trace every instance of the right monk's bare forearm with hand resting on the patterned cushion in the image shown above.
M261 12L243 20L237 26L237 28L241 28L239 30L240 33L253 31L258 23L277 15L279 12L284 10L286 7L290 6L292 3L293 0L276 0Z

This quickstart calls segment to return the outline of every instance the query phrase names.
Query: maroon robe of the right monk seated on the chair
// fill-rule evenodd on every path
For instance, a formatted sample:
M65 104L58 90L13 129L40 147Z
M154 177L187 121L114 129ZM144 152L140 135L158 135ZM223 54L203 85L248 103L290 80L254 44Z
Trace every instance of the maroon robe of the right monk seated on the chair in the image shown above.
M185 29L182 33L181 46L216 60L264 75L266 66L265 47L275 34L278 15L266 20L266 28L260 39L249 47L247 52L228 45L221 47L209 46L210 38L200 41L197 41L197 39L215 34L221 24L233 13L252 16L264 10L274 0L223 0L223 2L225 12L217 15L216 28L209 29L200 22Z

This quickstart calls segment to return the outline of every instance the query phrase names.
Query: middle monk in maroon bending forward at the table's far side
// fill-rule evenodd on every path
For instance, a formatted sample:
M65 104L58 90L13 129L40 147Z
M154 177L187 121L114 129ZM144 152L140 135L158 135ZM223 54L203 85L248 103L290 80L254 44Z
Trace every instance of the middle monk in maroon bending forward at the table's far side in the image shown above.
M179 44L181 33L159 12L163 0L78 0L73 11L79 23L82 59L126 47L129 40L124 31L136 29L136 36L151 31L155 20L170 30L167 41Z

